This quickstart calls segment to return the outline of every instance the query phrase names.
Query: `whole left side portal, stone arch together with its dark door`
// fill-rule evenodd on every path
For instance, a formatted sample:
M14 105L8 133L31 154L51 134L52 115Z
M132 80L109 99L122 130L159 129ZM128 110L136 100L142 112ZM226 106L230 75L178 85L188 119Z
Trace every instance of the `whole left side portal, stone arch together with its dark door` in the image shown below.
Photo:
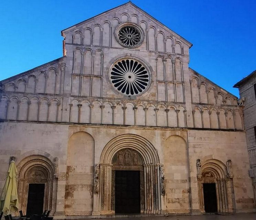
M31 155L22 159L17 168L18 196L23 213L51 210L53 215L56 210L57 177L54 176L55 168L50 159L42 155ZM35 207L31 199L28 200L29 197L41 197L42 201L38 201L39 207L36 210L33 210Z

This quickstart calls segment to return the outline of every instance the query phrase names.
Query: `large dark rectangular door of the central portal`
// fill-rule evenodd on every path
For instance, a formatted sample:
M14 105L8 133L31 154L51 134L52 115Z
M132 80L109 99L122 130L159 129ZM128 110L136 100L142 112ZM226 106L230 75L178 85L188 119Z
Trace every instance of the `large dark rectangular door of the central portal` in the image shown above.
M115 213L140 213L140 172L116 170Z

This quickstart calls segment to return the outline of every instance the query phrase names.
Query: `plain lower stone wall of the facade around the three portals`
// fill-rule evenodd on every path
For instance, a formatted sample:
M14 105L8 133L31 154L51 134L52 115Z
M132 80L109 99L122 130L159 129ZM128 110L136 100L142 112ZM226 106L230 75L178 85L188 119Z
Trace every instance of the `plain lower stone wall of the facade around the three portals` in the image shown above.
M228 200L229 211L254 207L252 185L244 172L249 168L245 132L2 122L1 186L10 156L17 157L18 167L31 155L42 155L51 161L58 157L57 189L53 194L56 213L91 214L97 211L98 204L93 194L94 164L99 163L107 143L124 134L143 136L156 148L165 170L166 195L161 205L168 213L202 209L196 173L198 158L202 167L211 159L226 167L231 159L234 177L228 180L232 183L230 191L233 190Z

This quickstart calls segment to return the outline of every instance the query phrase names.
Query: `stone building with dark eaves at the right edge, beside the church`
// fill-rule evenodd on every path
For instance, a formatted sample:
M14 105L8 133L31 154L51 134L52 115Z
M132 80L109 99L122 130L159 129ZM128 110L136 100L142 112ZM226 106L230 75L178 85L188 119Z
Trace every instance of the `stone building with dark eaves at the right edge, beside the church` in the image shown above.
M239 89L239 104L243 106L246 141L256 199L256 70L234 85Z

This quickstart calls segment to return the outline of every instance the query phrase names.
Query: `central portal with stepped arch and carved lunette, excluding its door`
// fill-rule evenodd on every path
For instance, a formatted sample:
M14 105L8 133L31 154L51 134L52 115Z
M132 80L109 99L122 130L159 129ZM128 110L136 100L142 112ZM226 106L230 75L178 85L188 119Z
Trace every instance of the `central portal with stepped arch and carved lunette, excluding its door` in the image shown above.
M117 173L119 176L139 175L141 213L161 212L159 157L148 140L134 134L120 135L112 139L104 147L99 165L101 214L115 213L115 174ZM134 174L129 172L124 174L124 171L126 173L134 171ZM136 174L136 171L139 173Z

